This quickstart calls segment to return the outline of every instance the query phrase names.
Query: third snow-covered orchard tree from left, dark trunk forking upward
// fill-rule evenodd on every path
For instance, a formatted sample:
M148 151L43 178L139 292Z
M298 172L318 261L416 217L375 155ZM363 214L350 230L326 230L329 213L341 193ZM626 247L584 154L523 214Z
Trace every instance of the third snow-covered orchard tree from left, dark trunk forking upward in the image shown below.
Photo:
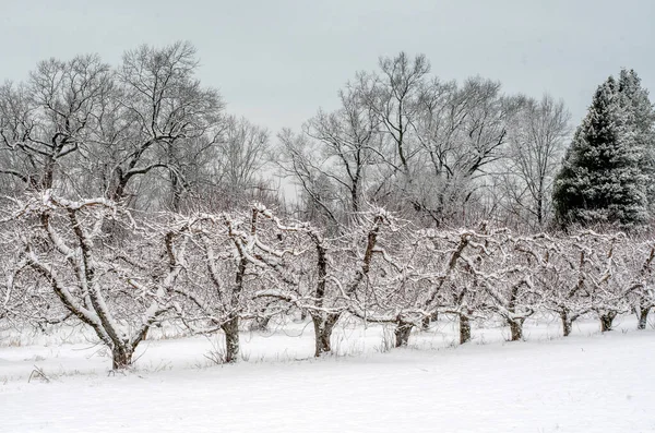
M274 269L281 285L264 289L255 296L273 298L306 311L312 320L315 335L315 357L332 351L331 336L340 318L349 311L352 300L367 280L380 232L389 224L389 216L378 209L361 215L348 236L325 239L309 224L285 225L271 213L263 214L275 222L284 236L294 236L302 242L288 255L294 260L281 262L282 252L270 250L260 261ZM344 242L340 248L340 240Z

